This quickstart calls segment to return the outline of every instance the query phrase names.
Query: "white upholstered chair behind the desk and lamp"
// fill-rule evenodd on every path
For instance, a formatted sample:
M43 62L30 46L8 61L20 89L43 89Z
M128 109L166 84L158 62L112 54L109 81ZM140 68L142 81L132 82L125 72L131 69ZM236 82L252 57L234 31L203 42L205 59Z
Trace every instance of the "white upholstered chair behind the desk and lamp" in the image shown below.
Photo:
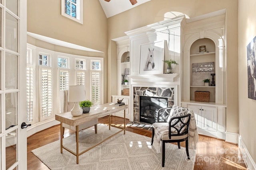
M60 113L70 111L73 106L74 106L74 102L68 102L68 90L60 90ZM83 124L79 125L79 131L82 129L87 129L94 125L95 133L97 133L97 124L98 124L98 119L94 119L92 121L83 123ZM76 131L76 127L67 125L65 123L62 123L62 128L63 128L62 137L64 137L65 128L72 129L73 131Z

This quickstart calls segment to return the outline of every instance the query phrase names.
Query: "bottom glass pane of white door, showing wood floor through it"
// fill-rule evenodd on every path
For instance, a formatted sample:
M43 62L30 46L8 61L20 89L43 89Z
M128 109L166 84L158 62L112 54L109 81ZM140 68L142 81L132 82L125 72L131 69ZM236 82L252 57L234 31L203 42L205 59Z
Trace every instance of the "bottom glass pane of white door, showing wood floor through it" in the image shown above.
M17 162L17 129L6 134L6 169Z

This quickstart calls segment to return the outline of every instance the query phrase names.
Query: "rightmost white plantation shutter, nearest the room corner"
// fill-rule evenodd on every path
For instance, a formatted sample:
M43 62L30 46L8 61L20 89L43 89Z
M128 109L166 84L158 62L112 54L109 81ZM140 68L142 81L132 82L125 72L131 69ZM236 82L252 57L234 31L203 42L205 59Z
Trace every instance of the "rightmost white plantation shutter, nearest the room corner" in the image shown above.
M92 103L100 105L100 72L91 72Z

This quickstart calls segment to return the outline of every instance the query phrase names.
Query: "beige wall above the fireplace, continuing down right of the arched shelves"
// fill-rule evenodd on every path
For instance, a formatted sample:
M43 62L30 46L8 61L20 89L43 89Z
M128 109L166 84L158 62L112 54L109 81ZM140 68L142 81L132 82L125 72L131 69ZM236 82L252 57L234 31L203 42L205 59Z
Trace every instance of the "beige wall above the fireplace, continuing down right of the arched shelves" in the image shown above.
M227 75L224 83L228 106L226 129L238 133L238 0L151 0L108 18L108 41L125 36L125 31L162 21L166 12L182 12L193 18L222 9L226 9L227 36Z

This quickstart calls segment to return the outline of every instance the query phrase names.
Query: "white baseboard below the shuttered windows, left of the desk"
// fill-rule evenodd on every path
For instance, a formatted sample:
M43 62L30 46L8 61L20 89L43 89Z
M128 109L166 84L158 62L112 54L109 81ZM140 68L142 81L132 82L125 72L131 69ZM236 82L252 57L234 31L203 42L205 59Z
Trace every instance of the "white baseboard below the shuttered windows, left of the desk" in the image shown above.
M38 122L36 124L33 124L27 128L27 137L30 137L31 135L40 132L44 129L47 129L49 127L52 127L54 125L60 124L59 121L55 120L55 117L52 119L44 120L42 122Z

